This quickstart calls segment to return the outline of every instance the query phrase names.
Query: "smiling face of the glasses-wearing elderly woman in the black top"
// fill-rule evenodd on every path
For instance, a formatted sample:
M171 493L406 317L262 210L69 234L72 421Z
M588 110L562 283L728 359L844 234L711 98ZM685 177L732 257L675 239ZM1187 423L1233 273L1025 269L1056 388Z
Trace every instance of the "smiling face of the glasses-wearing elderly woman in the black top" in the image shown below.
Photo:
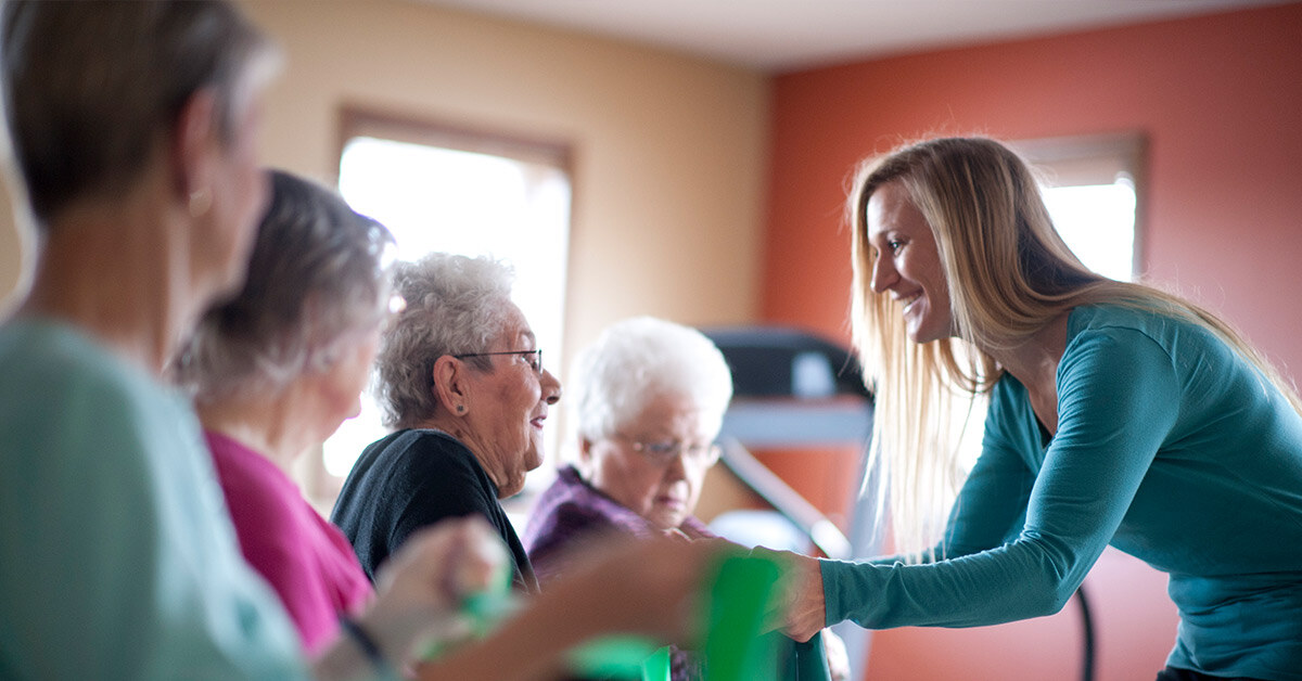
M483 353L513 353L536 349L534 332L512 302L506 306L503 332ZM466 372L464 439L488 477L497 496L508 497L525 487L525 473L543 464L543 422L549 405L561 396L561 384L549 371L538 371L533 354L484 357L488 371Z

